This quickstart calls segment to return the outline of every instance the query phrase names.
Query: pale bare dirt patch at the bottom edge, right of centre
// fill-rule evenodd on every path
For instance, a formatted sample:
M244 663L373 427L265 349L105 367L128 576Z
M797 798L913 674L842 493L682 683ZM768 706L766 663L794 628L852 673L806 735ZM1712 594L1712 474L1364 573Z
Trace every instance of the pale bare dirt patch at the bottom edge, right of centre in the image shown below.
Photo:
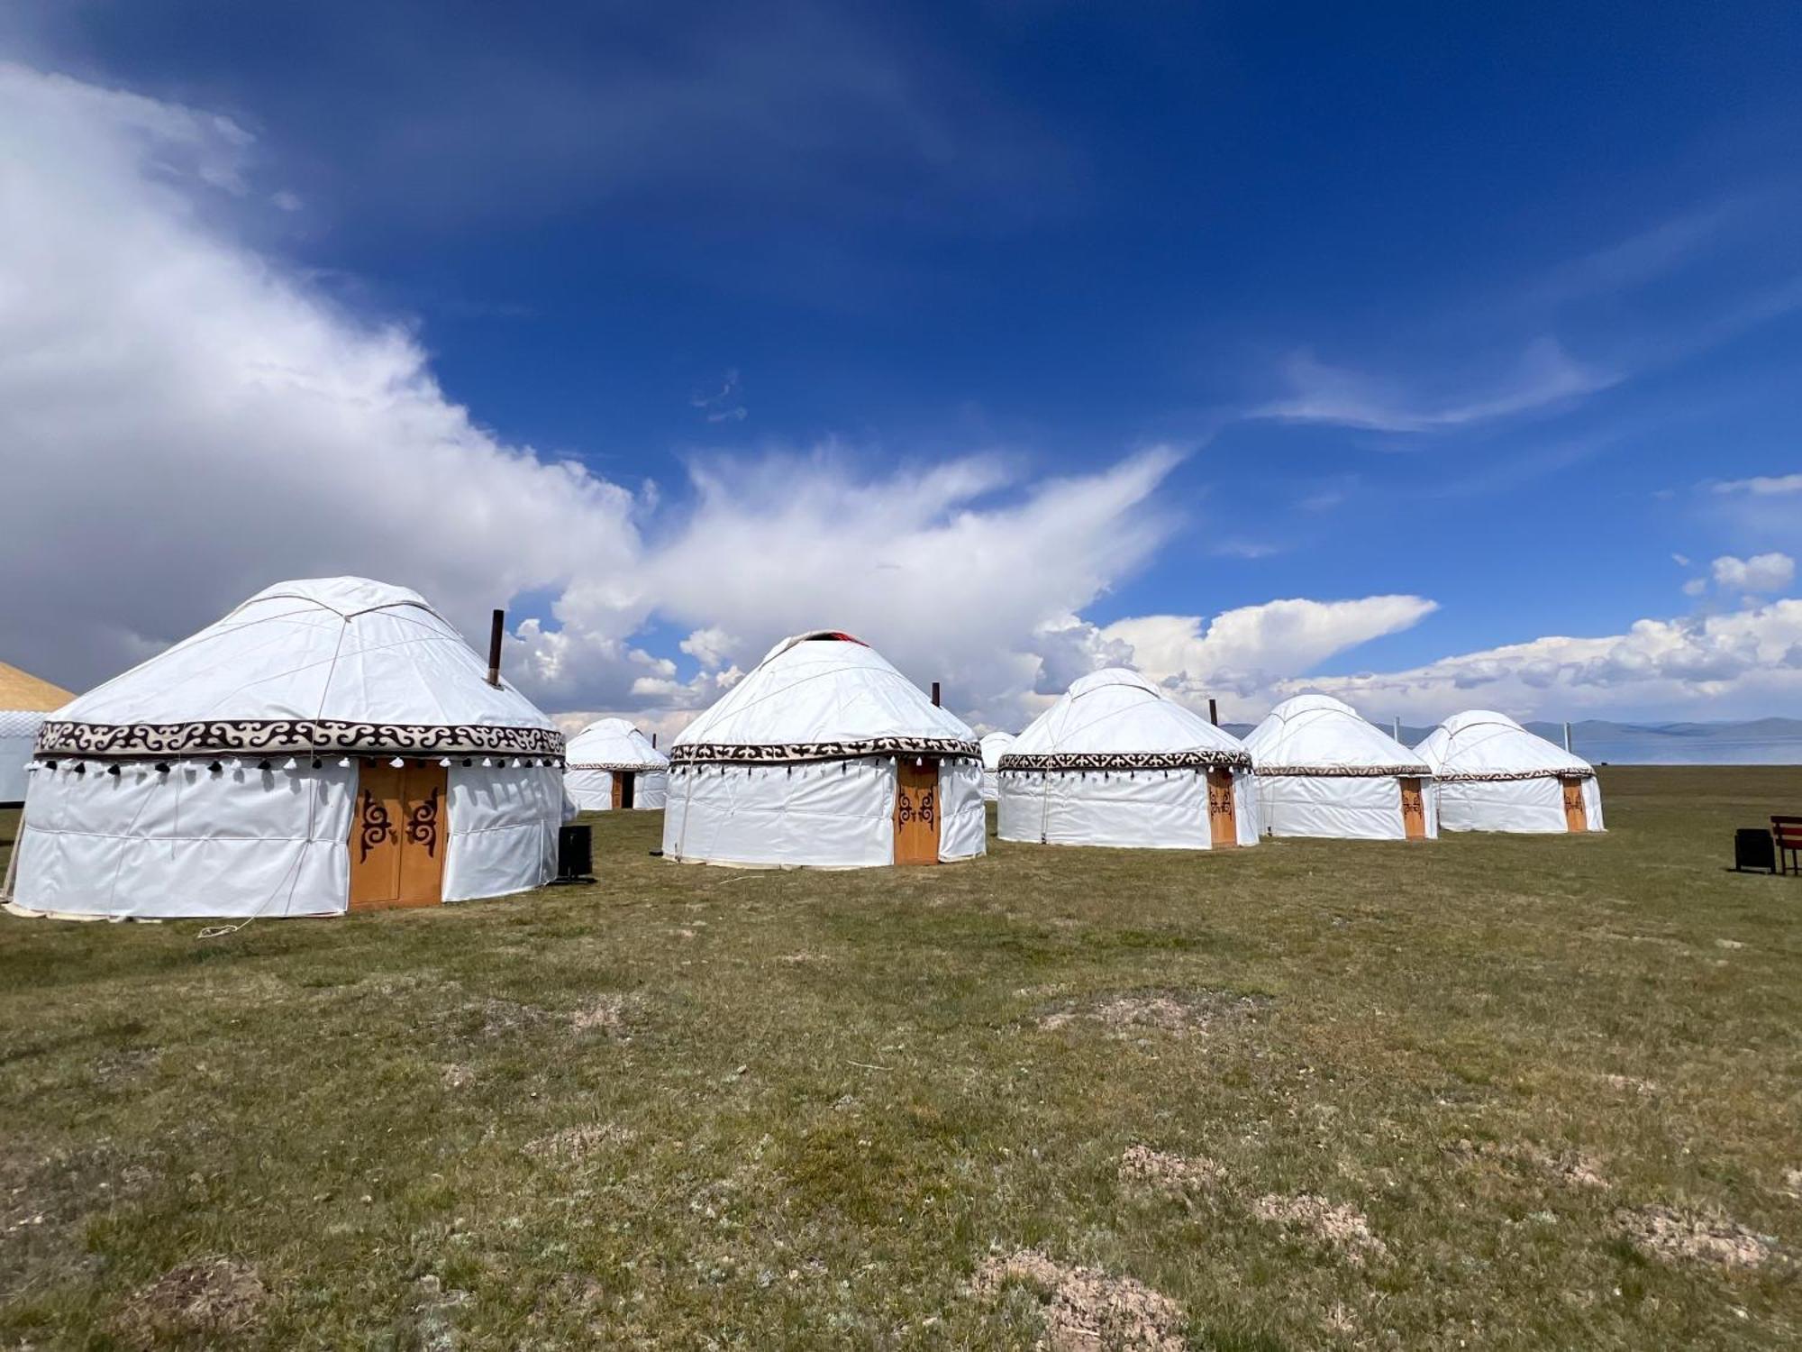
M1043 1293L1045 1352L1182 1352L1182 1311L1169 1296L1130 1276L1108 1276L1094 1267L1072 1267L1038 1249L989 1258L977 1269L971 1289L995 1298L1009 1282Z

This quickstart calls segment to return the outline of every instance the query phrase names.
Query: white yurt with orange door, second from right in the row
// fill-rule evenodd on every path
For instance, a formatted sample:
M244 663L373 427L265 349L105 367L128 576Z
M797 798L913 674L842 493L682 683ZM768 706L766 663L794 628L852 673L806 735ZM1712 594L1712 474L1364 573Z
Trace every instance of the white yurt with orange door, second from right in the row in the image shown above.
M1245 737L1272 836L1434 840L1433 770L1330 694L1285 699Z

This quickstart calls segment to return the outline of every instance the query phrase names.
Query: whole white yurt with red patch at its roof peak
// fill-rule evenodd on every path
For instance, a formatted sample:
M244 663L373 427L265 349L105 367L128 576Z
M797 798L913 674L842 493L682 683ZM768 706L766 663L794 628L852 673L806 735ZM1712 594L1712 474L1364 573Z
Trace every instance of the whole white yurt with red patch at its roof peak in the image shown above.
M860 638L784 638L670 743L663 854L865 869L982 854L975 734Z

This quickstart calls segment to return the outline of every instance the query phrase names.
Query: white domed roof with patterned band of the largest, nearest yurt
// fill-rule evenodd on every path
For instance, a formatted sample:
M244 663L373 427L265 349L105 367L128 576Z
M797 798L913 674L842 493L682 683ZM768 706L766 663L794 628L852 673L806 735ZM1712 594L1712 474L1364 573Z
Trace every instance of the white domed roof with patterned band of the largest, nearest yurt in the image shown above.
M562 734L423 597L362 577L278 582L43 725L41 754L562 755Z

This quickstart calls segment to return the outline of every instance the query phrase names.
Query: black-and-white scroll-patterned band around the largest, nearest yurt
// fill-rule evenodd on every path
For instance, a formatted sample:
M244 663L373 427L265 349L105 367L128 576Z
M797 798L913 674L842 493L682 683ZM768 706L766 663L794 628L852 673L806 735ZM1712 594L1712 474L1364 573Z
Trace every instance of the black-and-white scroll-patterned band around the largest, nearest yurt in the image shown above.
M211 723L45 723L38 755L207 755L213 752L434 752L440 755L553 755L555 728L420 723L346 723L328 717L216 719Z

